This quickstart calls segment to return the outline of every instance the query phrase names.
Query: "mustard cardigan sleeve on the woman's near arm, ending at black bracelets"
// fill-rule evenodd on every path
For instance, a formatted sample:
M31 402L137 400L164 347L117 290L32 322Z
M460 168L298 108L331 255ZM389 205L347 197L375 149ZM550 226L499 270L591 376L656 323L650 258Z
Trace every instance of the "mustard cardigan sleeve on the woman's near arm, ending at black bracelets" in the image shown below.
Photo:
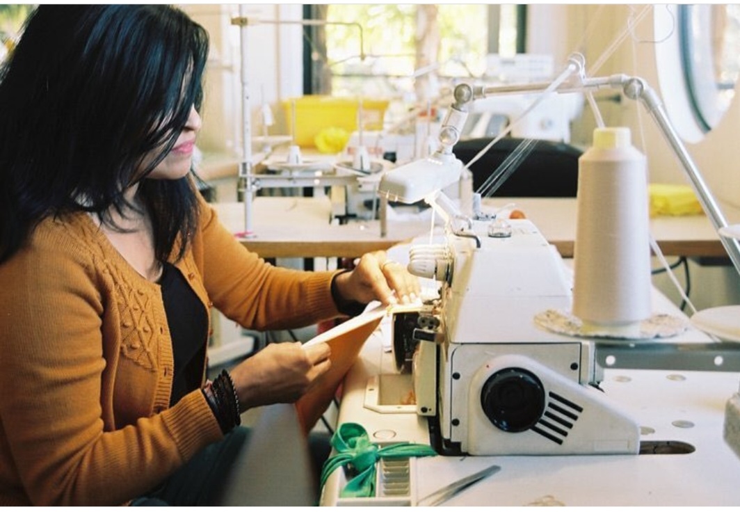
M94 256L73 246L36 240L0 266L0 481L35 505L121 505L221 432L199 392L106 425L102 318L115 305L104 303Z

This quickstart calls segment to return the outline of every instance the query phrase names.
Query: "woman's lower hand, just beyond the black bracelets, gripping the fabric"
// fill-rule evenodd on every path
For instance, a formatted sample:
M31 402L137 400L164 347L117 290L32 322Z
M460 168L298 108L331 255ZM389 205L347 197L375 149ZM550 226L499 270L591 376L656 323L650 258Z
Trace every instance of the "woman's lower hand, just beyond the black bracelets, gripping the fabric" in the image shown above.
M230 371L241 412L272 403L291 403L329 370L326 343L303 348L300 342L270 343Z

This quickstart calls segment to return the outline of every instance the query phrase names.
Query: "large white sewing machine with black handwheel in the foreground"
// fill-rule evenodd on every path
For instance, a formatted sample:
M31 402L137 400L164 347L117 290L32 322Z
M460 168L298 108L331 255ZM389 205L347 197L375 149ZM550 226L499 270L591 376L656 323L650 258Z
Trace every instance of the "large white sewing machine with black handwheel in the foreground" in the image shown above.
M639 427L602 391L593 343L537 327L571 285L529 220L474 220L414 246L409 269L440 297L391 320L394 359L413 372L417 414L443 454L636 454Z

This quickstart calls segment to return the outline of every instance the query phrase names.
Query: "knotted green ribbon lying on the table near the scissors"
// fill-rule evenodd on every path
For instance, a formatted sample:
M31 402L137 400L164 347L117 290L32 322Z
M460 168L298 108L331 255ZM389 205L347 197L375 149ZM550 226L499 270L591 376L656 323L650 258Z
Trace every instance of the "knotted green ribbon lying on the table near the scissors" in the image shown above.
M324 462L321 470L321 487L326 484L334 470L350 465L357 472L345 488L342 498L369 498L375 496L375 463L380 459L403 459L406 457L428 457L437 455L429 445L398 442L383 446L370 441L362 425L342 423L332 436L332 448L337 453Z

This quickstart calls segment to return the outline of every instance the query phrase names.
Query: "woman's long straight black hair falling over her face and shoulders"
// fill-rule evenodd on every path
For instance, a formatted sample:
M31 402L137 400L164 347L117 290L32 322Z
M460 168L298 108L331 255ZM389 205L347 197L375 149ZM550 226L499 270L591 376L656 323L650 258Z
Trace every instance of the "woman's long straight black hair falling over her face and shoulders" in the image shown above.
M156 256L178 241L184 255L198 223L191 178L141 178L200 110L208 48L203 27L165 5L41 5L30 15L0 67L0 263L50 215L112 223L107 212L131 206L124 190L135 181Z

